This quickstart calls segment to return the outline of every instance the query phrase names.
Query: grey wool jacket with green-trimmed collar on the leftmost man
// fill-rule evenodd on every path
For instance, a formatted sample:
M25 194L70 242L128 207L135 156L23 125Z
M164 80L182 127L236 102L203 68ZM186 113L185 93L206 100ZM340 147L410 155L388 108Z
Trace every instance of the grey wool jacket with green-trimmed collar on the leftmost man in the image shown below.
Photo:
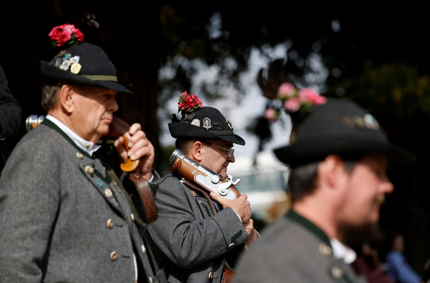
M0 179L0 282L135 283L133 252L150 282L146 215L127 180L47 119L26 134ZM153 195L159 183L154 172Z

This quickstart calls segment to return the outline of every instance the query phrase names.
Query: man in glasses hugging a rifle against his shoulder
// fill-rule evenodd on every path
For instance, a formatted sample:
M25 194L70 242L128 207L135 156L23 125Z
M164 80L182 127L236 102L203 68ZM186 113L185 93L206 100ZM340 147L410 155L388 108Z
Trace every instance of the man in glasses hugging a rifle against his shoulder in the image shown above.
M223 178L234 162L233 144L245 144L212 107L182 111L169 131L177 149ZM158 282L221 282L224 269L234 269L244 246L258 237L246 198L228 200L187 186L174 173L164 176L155 201L158 219L144 237Z

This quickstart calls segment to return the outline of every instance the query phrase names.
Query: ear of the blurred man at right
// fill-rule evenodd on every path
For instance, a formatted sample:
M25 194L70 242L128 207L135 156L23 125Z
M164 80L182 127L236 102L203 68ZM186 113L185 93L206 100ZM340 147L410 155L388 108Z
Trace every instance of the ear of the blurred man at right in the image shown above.
M344 161L338 155L329 155L319 164L319 180L329 188L336 188L346 173Z

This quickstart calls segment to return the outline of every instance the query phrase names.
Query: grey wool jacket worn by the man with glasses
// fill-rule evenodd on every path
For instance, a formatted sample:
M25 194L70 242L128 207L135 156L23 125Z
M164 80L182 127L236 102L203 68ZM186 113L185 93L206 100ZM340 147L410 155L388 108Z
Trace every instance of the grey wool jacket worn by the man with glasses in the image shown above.
M158 218L144 237L156 274L153 282L221 282L224 264L234 268L248 240L234 210L214 211L209 195L172 173L161 179L155 203Z

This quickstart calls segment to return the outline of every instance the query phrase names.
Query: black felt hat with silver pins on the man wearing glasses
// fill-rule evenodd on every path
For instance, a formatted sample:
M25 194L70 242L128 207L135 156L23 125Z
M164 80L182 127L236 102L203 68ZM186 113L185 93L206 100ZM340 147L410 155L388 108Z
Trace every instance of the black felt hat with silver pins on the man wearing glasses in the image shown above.
M169 123L172 137L184 140L224 140L245 145L245 140L233 133L231 122L218 109L203 107L182 113L180 121L173 114L174 119Z

